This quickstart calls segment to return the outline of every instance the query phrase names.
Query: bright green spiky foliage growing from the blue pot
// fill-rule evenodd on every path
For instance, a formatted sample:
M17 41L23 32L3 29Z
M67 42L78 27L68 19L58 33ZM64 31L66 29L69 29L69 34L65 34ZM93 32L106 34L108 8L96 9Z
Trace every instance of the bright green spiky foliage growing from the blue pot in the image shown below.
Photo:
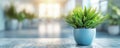
M105 18L106 16L103 17L96 9L76 7L65 21L74 28L95 28Z

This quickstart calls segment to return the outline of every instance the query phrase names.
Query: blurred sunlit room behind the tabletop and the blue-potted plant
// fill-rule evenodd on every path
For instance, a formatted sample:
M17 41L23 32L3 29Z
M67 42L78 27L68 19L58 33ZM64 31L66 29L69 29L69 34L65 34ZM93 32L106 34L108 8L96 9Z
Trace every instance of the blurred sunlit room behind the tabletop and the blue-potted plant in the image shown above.
M102 15L108 15L109 18L97 27L96 37L98 42L117 39L114 43L119 44L119 4L120 0L0 0L0 39L4 41L0 45L6 46L9 44L6 40L12 38L26 41L28 38L73 38L73 28L64 17L76 6L96 8Z

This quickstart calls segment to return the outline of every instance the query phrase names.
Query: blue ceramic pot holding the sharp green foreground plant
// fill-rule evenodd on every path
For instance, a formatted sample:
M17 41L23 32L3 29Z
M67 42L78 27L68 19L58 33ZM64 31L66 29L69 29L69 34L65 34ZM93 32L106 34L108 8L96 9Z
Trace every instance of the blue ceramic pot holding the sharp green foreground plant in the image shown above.
M74 38L77 45L91 45L96 36L96 29L74 29Z

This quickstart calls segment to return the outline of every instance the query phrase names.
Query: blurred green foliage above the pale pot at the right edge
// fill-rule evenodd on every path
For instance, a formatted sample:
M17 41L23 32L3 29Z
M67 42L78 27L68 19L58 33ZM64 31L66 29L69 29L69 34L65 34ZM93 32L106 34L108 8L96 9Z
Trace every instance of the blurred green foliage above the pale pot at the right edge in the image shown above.
M120 8L112 4L112 0L110 0L108 7L111 8L111 12L109 14L109 24L110 25L119 25L120 24Z

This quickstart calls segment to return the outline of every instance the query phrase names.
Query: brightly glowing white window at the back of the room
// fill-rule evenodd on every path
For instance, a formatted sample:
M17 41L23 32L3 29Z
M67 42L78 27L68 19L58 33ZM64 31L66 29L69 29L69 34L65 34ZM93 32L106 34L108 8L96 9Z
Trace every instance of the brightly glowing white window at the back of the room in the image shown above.
M39 5L39 17L40 18L58 18L60 16L59 4L40 4Z

